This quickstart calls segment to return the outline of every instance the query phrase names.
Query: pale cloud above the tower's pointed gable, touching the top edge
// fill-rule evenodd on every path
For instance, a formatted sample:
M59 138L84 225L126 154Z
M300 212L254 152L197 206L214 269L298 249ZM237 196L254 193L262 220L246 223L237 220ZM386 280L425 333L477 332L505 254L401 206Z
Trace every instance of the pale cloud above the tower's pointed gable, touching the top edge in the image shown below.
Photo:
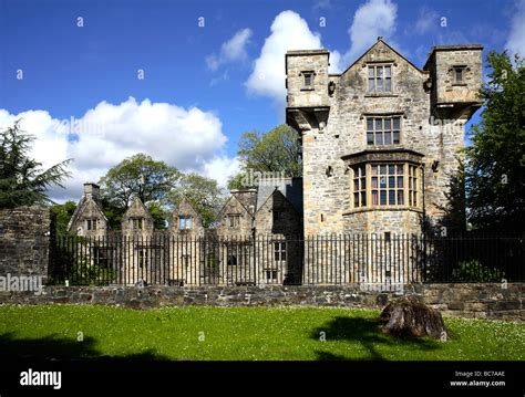
M351 46L344 54L347 64L354 62L382 35L385 40L395 32L398 6L390 0L369 0L353 14L348 30Z

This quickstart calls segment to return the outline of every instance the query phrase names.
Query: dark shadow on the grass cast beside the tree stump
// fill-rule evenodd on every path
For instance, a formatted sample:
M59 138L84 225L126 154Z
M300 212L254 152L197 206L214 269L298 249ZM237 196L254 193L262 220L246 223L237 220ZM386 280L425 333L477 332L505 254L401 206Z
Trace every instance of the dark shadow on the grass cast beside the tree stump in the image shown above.
M338 316L325 325L317 327L311 333L311 338L319 339L321 332L327 341L347 341L351 344L359 343L367 351L364 357L347 357L327 351L318 351L318 361L384 361L384 356L378 347L399 347L406 351L434 351L440 348L440 344L429 338L397 338L392 335L383 334L378 320L363 317L341 317Z

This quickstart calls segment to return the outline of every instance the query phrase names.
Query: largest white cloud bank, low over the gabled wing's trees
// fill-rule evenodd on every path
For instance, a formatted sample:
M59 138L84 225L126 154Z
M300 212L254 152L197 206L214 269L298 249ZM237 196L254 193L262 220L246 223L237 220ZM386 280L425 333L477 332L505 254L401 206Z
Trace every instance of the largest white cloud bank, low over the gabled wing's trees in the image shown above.
M51 191L55 199L79 199L84 181L97 181L110 167L136 153L209 176L224 176L235 168L235 159L223 153L227 138L220 119L197 107L148 100L137 103L133 97L119 105L101 102L78 121L76 129L64 128L64 123L45 111L13 115L0 109L0 129L19 118L23 118L22 129L37 137L31 155L45 167L74 159L68 190Z

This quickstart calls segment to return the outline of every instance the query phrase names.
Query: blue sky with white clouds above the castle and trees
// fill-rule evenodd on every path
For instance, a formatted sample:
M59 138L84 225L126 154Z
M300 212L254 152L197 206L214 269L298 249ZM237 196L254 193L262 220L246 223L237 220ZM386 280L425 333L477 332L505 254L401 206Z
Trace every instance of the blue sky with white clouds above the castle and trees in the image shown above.
M378 35L418 66L437 44L523 54L524 15L524 0L0 0L0 126L23 117L45 165L75 159L58 199L136 152L224 182L241 133L284 122L286 49L322 45L339 69ZM60 129L71 117L103 128Z

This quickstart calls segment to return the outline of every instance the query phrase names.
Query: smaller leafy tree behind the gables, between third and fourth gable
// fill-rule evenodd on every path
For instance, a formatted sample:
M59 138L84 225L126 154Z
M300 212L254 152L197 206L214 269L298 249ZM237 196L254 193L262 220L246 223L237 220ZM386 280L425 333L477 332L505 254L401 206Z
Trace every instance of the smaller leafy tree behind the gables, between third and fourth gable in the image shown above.
M168 203L176 206L186 197L195 210L200 215L204 226L210 226L225 202L225 191L217 181L198 174L186 174L179 179L176 189L169 191Z

